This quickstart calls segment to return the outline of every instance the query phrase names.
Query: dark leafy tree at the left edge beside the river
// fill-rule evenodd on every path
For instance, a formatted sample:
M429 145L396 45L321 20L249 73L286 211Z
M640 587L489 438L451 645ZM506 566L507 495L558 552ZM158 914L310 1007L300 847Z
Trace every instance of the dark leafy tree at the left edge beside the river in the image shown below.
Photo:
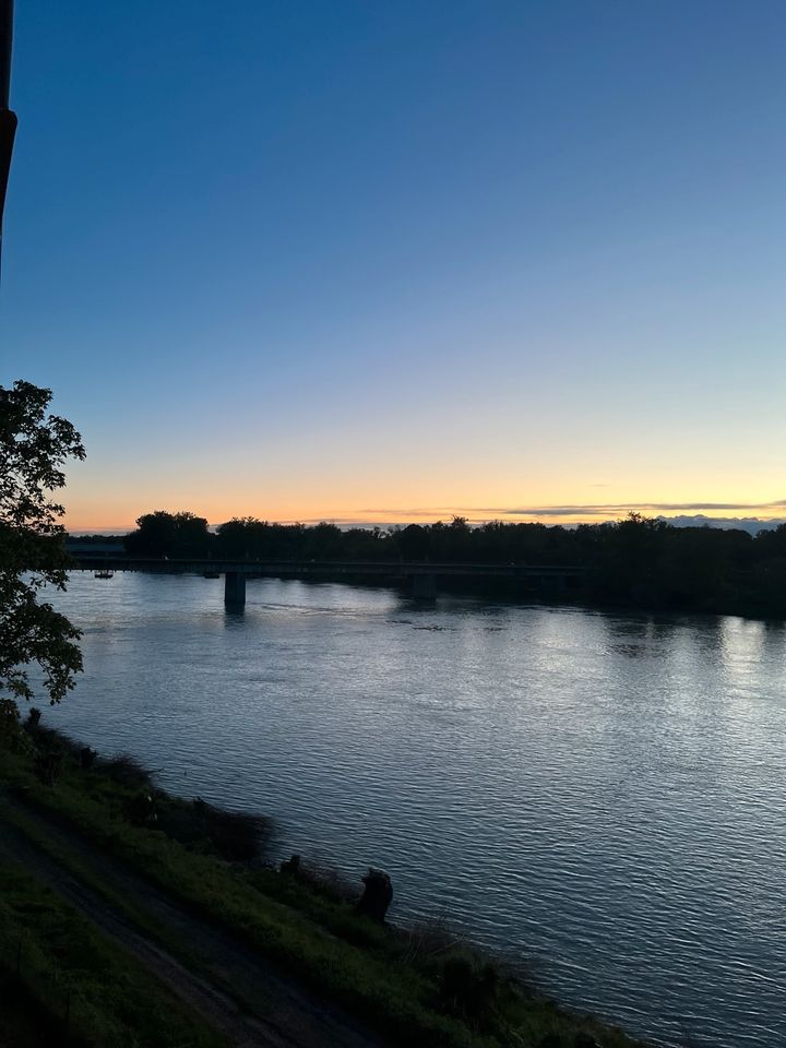
M82 668L69 620L39 602L46 585L66 588L69 564L50 495L62 488L67 458L84 458L71 422L47 415L51 392L15 382L0 386L0 689L31 699L27 666L38 664L50 702L59 702Z

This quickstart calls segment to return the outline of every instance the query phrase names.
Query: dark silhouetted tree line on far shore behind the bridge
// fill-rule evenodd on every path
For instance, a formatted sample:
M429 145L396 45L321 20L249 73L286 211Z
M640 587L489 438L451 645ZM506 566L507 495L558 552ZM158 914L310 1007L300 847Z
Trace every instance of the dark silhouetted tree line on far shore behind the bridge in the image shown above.
M124 538L130 556L227 560L452 561L590 569L587 599L678 611L786 614L786 525L676 527L638 513L603 524L492 521L340 528L235 517L215 531L194 513L158 510Z

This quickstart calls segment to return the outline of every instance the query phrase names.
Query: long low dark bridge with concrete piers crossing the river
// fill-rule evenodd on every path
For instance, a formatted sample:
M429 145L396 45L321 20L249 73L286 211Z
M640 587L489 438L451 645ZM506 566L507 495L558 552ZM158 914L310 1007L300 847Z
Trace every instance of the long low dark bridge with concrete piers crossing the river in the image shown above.
M145 571L157 574L224 575L224 603L227 607L246 604L246 580L277 577L306 580L352 579L391 583L408 582L417 599L433 599L438 579L510 579L528 587L559 591L581 587L590 569L547 564L461 564L429 561L361 560L206 560L116 557L76 553L78 571Z

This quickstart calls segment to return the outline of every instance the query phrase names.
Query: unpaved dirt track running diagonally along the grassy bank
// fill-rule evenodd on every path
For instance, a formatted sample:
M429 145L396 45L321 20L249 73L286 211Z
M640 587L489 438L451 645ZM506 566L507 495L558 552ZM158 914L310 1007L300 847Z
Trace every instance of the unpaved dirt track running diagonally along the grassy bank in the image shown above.
M152 936L136 927L78 877L63 870L28 837L2 818L16 808L55 845L68 848L102 882L168 929L198 960L187 967ZM80 909L116 943L141 961L177 997L229 1040L242 1048L382 1048L382 1040L338 1009L320 1001L227 932L213 927L143 878L100 855L78 834L3 796L0 802L0 856L27 867L39 880ZM166 938L166 937L163 937Z

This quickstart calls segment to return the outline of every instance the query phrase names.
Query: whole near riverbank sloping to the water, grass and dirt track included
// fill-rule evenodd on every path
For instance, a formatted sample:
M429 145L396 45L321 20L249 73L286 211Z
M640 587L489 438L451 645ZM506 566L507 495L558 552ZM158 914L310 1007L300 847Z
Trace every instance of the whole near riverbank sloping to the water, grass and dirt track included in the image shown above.
M342 891L249 861L264 820L216 831L206 806L133 762L34 725L4 734L0 965L75 1043L126 1044L146 1023L143 1041L164 1045L177 1015L179 1043L205 1046L636 1044L443 931L377 925ZM48 966L64 996L45 989ZM98 975L112 972L131 989L102 1011Z

